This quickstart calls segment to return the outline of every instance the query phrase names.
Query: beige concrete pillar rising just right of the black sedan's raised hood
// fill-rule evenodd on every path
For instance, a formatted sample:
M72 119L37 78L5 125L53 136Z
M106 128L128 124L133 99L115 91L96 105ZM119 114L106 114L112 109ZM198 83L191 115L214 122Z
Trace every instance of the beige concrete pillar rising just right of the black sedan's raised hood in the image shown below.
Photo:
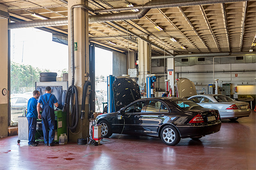
M149 39L149 36L145 38ZM151 46L146 41L139 39L139 87L146 92L147 74L150 74ZM146 96L144 94L144 96Z

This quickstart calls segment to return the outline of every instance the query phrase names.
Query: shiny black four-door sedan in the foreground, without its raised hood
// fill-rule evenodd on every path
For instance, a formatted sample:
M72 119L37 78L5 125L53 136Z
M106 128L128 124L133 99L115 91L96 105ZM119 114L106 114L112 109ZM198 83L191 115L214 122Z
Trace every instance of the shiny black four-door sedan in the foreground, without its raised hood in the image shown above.
M218 110L182 98L142 98L115 113L101 114L101 136L136 134L160 137L167 145L181 138L200 139L219 131Z

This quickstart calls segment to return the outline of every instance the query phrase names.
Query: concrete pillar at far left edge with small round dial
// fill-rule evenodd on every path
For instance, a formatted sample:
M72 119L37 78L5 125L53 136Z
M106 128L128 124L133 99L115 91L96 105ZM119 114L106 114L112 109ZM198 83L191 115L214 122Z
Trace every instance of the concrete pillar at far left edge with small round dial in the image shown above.
M0 10L7 12L5 5ZM8 19L0 19L0 138L8 135Z

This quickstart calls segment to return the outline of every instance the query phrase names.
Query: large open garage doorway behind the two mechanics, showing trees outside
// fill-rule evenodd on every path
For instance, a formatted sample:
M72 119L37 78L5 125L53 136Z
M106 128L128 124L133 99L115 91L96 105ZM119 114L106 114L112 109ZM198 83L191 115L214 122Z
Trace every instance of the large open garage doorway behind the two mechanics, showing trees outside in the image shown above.
M68 72L68 46L36 28L11 30L11 125L27 108L40 72Z

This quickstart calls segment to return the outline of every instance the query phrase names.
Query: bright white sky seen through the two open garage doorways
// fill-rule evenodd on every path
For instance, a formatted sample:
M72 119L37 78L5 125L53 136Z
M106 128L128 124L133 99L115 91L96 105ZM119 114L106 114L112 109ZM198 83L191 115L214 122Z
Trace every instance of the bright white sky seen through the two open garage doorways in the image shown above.
M112 74L112 52L96 48L96 76ZM52 41L52 34L36 28L11 30L11 61L51 72L68 69L68 46Z

